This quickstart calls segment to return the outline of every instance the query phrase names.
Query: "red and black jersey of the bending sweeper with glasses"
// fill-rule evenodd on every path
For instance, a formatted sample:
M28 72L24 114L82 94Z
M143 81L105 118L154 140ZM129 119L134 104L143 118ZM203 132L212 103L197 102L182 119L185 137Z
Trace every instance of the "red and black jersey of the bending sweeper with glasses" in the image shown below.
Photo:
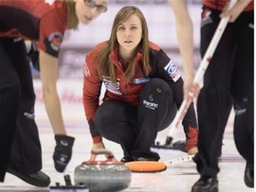
M36 40L57 57L67 29L67 6L54 0L0 0L0 36Z

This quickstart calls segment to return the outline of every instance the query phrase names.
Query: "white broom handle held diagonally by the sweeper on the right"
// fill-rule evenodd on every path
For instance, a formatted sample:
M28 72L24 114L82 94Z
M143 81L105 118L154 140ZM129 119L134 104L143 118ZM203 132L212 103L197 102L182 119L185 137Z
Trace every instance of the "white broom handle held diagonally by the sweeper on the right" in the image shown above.
M230 0L230 4L228 5L228 10L232 9L236 4L236 2L237 0ZM196 76L193 81L194 84L198 84L200 80L203 78L205 70L212 59L212 55L215 52L215 49L220 42L220 37L222 36L225 28L228 25L228 20L229 20L229 17L225 17L220 20L219 26L216 29L214 36L212 37L212 41L209 44L207 51L204 54L204 58L201 61L199 68L197 69ZM172 122L172 127L170 129L170 132L168 133L169 138L172 138L172 136L175 135L175 133L177 132L177 128L179 127L184 116L186 115L188 111L188 107L190 103L193 101L193 99L194 99L194 92L190 90L190 92L188 92L188 99L182 101L180 109Z

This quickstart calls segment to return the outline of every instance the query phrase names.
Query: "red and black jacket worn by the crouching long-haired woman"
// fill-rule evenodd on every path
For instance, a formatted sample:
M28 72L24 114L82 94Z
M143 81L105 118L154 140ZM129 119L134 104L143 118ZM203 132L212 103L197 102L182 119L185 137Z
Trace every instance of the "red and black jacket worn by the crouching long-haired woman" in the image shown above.
M98 75L97 68L99 63L96 63L94 60L100 50L106 45L108 45L108 42L96 45L91 52L87 53L85 58L83 101L85 116L88 121L94 120L97 108L100 106L101 84L105 84L107 90L103 102L104 100L121 100L136 106L140 101L140 91L148 83L149 79L161 78L172 88L175 103L177 108L180 108L183 100L183 80L180 70L158 45L149 43L148 76L145 76L142 67L143 54L141 52L137 54L136 72L129 84L126 83L124 69L121 67L117 57L118 47L109 55L109 60L116 66L116 84L109 80L109 76L102 76L100 78ZM183 119L182 124L184 127L197 127L193 106L188 108L187 115Z

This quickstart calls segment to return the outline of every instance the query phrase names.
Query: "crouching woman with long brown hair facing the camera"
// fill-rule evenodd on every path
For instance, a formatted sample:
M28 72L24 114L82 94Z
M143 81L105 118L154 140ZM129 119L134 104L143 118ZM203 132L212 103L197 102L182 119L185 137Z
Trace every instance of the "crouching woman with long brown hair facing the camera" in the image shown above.
M107 91L100 105L101 84ZM124 163L158 161L160 156L150 146L157 132L172 123L183 100L182 88L177 66L158 45L149 42L142 12L125 6L116 14L108 41L86 54L83 99L92 148L104 148L104 137L121 145ZM193 104L182 124L190 154L197 145Z

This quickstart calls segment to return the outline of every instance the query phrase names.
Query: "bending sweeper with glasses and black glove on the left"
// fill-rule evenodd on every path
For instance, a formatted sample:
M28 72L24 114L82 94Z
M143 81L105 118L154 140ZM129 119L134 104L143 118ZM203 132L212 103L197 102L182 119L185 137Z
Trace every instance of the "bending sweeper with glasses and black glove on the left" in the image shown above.
M79 21L89 24L107 11L107 4L108 0L0 0L0 181L8 171L32 185L50 184L40 171L36 96L24 39L38 41L44 104L56 140L53 160L55 169L63 172L75 139L65 130L56 88L60 44L66 29L76 29Z

